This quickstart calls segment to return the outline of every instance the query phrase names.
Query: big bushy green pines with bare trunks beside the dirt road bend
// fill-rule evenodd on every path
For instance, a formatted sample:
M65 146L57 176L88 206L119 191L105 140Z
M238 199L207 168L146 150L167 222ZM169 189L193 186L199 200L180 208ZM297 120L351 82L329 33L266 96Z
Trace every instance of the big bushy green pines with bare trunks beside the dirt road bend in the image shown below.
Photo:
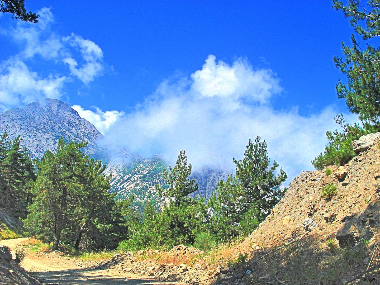
M24 225L32 236L53 242L52 250L60 243L77 249L114 248L127 234L122 214L128 213L130 200L114 201L105 165L84 155L84 146L60 138L55 154L47 150L36 161L34 197Z

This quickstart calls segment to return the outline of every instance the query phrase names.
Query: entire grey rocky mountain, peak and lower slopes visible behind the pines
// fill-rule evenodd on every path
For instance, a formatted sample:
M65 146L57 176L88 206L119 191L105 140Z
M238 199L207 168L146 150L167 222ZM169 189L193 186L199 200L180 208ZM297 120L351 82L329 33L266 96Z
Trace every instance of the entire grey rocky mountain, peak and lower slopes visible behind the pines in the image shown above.
M60 100L44 99L0 113L0 131L7 131L11 139L21 135L21 146L27 147L32 158L40 158L47 149L55 152L60 137L87 141L84 153L107 165L106 174L112 174L110 191L117 192L117 199L134 194L136 206L160 200L154 184L163 183L160 173L167 163L159 155L144 158L123 146L107 144L92 123ZM208 197L226 174L207 168L194 176L200 179L197 193Z

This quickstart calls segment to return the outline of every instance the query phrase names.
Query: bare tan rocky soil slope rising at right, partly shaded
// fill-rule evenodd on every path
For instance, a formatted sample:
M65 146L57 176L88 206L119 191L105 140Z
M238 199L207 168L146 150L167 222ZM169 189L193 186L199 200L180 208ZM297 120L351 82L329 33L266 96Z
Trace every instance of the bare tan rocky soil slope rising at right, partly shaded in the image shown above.
M351 279L355 283L380 284L379 144L380 133L363 136L353 142L356 157L339 168L332 166L332 174L327 175L326 168L304 171L294 178L266 220L242 244L226 253L233 260L247 253L249 261L231 268L215 283L312 283L289 281L294 273L299 276L303 271L305 279L309 276L315 282L336 274L340 284L350 283ZM322 190L329 184L335 185L336 192L326 198ZM368 250L367 257L355 261L361 247L364 255ZM334 263L339 258L343 261ZM295 260L299 261L296 269ZM332 264L348 266L347 272L339 275ZM363 274L369 271L371 276Z

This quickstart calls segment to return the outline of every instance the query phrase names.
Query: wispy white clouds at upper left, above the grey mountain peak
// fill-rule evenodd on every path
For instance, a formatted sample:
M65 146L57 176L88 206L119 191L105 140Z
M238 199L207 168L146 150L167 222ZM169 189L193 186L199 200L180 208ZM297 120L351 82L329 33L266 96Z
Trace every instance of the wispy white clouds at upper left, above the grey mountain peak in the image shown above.
M38 14L38 24L17 21L13 28L1 32L22 50L0 63L0 111L43 98L60 99L68 82L79 79L88 85L105 69L103 52L97 44L75 34L56 35L51 30L54 16L50 9L43 8ZM48 61L50 69L60 68L63 72L43 75L33 71L28 63L36 56Z

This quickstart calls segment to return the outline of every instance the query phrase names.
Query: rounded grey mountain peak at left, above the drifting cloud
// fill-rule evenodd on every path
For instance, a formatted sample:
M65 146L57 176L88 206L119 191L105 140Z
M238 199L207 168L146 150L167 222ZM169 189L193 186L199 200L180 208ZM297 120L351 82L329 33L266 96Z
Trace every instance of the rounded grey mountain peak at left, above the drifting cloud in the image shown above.
M32 157L41 157L47 149L55 151L60 137L88 141L85 152L92 154L99 151L95 142L103 138L92 123L57 99L44 99L1 113L0 131L7 131L11 139L21 135L21 145L27 147Z

